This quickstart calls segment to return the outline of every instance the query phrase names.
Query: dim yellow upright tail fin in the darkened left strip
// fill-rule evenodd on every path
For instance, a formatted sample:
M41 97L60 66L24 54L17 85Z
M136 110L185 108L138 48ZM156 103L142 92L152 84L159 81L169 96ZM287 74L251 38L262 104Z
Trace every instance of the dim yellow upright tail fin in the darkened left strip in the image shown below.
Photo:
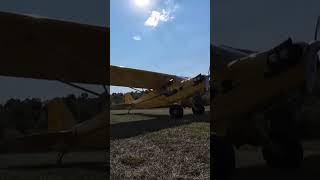
M73 114L62 99L48 103L48 132L68 130L75 124Z

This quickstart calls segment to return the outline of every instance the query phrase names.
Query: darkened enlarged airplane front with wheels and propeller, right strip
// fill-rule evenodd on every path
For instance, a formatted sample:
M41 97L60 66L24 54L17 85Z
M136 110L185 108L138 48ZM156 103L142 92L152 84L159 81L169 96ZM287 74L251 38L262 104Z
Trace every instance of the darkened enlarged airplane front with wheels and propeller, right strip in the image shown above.
M232 174L233 146L244 144L261 146L271 167L299 167L302 119L297 113L303 94L312 92L319 76L320 41L289 38L263 52L211 48L211 147L215 147L211 167L215 178Z

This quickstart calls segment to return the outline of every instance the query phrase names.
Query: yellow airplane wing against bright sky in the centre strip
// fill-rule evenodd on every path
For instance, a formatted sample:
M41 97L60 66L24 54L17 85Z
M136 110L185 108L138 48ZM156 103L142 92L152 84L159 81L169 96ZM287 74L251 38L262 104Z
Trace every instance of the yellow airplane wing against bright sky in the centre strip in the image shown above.
M110 66L110 85L135 88L159 89L169 81L182 81L184 78L152 71Z

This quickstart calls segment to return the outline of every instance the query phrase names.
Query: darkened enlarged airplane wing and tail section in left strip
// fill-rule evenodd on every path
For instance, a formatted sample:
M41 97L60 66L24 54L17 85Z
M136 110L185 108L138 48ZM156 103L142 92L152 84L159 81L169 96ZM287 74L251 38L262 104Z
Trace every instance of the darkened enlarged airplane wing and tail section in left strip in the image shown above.
M57 80L83 90L71 82L109 84L108 28L4 12L0 21L0 75ZM58 164L65 152L106 151L108 106L92 119L76 124L61 100L52 101L48 104L48 132L5 139L0 142L0 151L54 150L59 152Z

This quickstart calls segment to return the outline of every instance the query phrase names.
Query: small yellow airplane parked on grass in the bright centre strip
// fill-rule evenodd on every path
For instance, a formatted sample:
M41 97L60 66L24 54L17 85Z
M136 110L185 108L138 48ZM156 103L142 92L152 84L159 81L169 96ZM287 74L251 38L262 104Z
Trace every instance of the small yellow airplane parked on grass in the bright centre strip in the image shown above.
M111 106L111 109L150 109L169 107L172 118L183 117L183 107L191 106L195 115L205 111L202 96L208 91L209 76L199 74L193 78L110 66L110 84L134 88L147 88L149 91L134 100L130 93L125 94L125 103Z

